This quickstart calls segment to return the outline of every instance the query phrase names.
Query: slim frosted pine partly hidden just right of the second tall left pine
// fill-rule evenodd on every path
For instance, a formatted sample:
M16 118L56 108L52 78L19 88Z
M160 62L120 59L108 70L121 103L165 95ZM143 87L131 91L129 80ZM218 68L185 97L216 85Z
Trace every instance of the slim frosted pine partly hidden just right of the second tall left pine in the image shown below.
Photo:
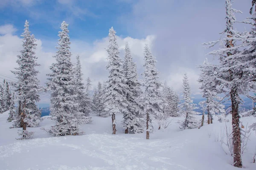
M87 93L87 90L90 88L90 82L87 82L86 89L84 88L83 83L83 74L81 71L81 62L79 55L76 56L76 68L75 68L75 77L76 77L76 88L77 88L77 103L79 103L79 111L84 114L84 116L89 117L91 112L91 101L90 96ZM88 84L89 83L89 84Z

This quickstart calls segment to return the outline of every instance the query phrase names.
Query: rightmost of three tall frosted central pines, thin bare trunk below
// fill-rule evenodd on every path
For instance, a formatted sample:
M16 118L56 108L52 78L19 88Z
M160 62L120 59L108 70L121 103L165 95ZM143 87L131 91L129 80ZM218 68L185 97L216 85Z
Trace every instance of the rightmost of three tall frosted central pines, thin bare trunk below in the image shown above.
M144 47L144 61L143 67L143 86L145 92L143 94L144 112L146 114L146 139L149 139L149 133L153 132L152 119L157 120L158 123L164 120L163 114L163 98L160 91L161 83L159 82L157 62L155 57L151 54L148 45Z

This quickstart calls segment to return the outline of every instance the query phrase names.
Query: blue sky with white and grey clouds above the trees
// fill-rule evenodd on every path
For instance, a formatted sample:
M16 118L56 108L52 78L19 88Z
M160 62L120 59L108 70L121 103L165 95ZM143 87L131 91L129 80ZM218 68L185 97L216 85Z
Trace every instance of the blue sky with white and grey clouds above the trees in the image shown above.
M251 0L235 0L233 7L243 11L238 20L250 17ZM0 0L0 81L15 81L10 72L17 66L25 20L37 39L36 55L41 85L47 81L54 62L58 31L63 20L69 23L73 61L79 54L84 79L93 85L108 77L105 65L108 30L118 36L120 56L128 41L138 71L143 72L143 46L148 43L157 58L160 80L182 91L182 78L188 73L192 93L199 97L196 68L209 50L201 44L218 40L225 28L225 0ZM250 29L237 24L239 30ZM215 61L212 61L215 62ZM2 79L2 80L1 80ZM41 96L48 103L49 94Z

